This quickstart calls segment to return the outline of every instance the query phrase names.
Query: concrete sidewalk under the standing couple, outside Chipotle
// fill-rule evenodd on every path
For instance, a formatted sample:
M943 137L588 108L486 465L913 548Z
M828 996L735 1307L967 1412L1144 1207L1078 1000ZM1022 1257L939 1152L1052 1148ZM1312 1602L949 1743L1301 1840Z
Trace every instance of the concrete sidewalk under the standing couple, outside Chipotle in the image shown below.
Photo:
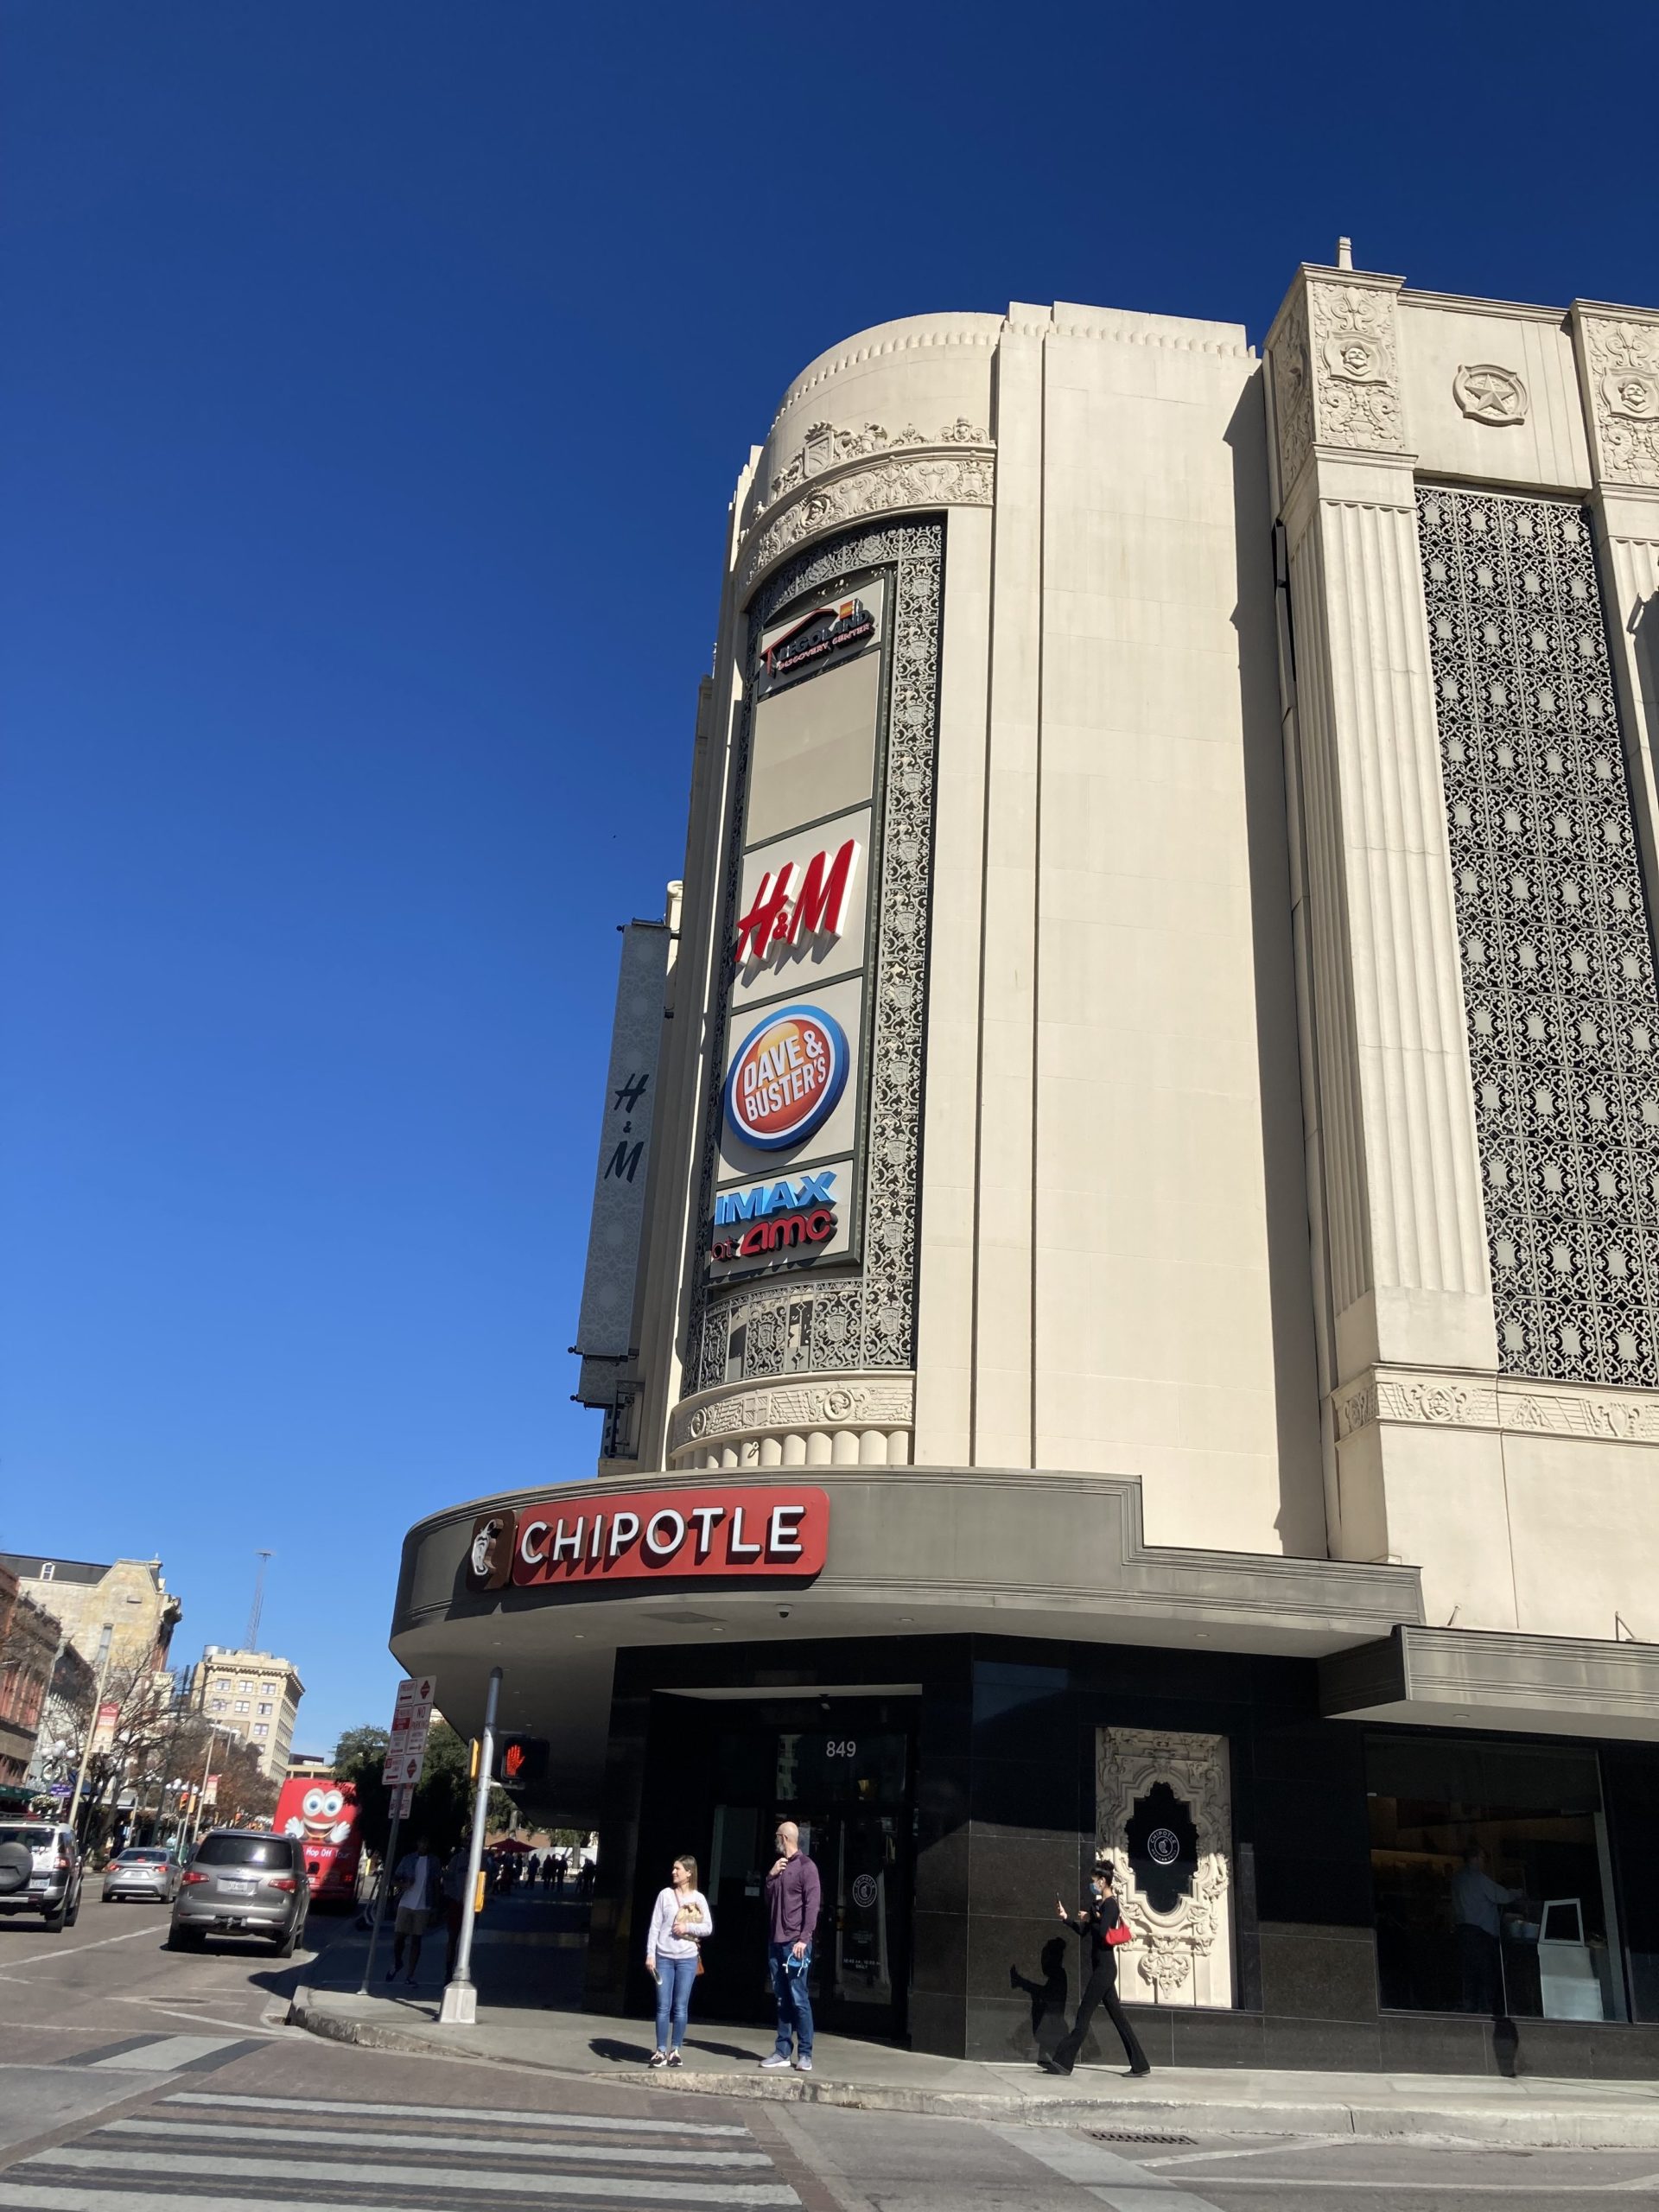
M513 2064L648 2086L664 2095L774 2097L953 2119L1110 2128L1126 2135L1363 2135L1411 2143L1659 2150L1659 2084L1517 2081L1469 2075L1221 2073L1159 2068L1146 2081L1088 2066L1068 2081L1035 2066L940 2059L818 2035L814 2073L761 2073L761 2028L699 2026L686 2068L650 2073L650 2028L599 2013L480 2006L478 2026L438 2026L438 1993L358 1997L299 1989L290 2022L345 2044Z

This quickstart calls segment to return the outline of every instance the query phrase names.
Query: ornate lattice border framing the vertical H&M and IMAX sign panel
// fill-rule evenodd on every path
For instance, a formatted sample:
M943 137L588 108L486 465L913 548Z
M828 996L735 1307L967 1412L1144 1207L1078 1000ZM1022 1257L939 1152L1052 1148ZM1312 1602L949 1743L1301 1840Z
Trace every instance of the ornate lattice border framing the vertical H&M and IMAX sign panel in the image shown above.
M721 1385L916 1365L916 1214L922 1152L922 1042L927 1013L927 931L933 876L933 781L938 757L938 670L945 613L945 518L849 531L787 562L748 611L750 666L772 613L803 591L854 568L891 577L891 659L887 672L880 821L880 896L867 998L867 1119L863 1259L852 1272L799 1270L723 1290L701 1281L686 1334L684 1396ZM752 706L737 732L734 805L728 827L723 933L734 927L743 867L741 799L748 790ZM721 973L710 1035L726 1035L730 978ZM710 1066L703 1099L703 1155L697 1225L714 1210L723 1066ZM743 1360L728 1376L732 1332L743 1329ZM894 1453L898 1458L898 1453Z

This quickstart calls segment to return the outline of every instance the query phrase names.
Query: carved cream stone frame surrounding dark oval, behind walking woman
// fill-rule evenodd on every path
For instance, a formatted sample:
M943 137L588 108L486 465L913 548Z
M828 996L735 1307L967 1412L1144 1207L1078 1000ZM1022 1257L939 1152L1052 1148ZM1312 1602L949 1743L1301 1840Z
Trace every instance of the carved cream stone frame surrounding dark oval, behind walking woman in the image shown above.
M1175 1790L1199 1832L1199 1871L1192 1891L1170 1913L1152 1911L1128 1863L1135 1801L1157 1783ZM1095 1845L1117 1865L1117 1905L1135 1929L1135 1942L1119 1953L1128 1969L1124 1995L1152 2004L1230 2006L1234 1995L1228 1739L1186 1736L1159 1728L1095 1730Z

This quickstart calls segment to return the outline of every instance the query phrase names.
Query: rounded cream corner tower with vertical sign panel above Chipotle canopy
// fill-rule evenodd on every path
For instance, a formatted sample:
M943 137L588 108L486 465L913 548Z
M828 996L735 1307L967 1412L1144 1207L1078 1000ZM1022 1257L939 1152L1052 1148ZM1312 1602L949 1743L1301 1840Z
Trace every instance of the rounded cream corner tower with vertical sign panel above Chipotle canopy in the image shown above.
M1133 1464L1157 1533L1323 1553L1261 453L1243 332L1164 316L911 316L783 396L699 721L630 1464ZM723 1084L812 993L847 1084L763 1152Z

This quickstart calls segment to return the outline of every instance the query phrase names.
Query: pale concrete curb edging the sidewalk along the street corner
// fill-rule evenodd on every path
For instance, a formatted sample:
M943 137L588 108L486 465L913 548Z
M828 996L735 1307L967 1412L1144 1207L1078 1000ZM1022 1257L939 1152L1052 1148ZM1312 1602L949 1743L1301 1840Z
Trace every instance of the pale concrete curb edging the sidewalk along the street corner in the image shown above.
M489 2064L487 2053L440 2039L438 2033L345 2020L307 2002L299 1991L288 2024L336 2044L363 2051L398 2051L407 2057L445 2057ZM465 2035L467 2031L456 2031ZM515 2068L566 2081L615 2081L615 2066L551 2066L546 2059L513 2057ZM1367 2141L1418 2143L1436 2150L1659 2150L1659 2104L1650 2112L1582 2112L1559 2106L1517 2104L1502 2112L1436 2110L1433 2106L1363 2104L1263 2104L1261 2099L1183 2104L1179 2099L1133 2097L993 2097L984 2090L896 2088L878 2081L832 2081L821 2075L697 2075L641 2073L639 2088L666 2097L737 2097L752 2104L825 2104L860 2112L916 2112L929 2119L982 2119L1022 2128L1099 2128L1117 2124L1159 2135L1325 2135Z

